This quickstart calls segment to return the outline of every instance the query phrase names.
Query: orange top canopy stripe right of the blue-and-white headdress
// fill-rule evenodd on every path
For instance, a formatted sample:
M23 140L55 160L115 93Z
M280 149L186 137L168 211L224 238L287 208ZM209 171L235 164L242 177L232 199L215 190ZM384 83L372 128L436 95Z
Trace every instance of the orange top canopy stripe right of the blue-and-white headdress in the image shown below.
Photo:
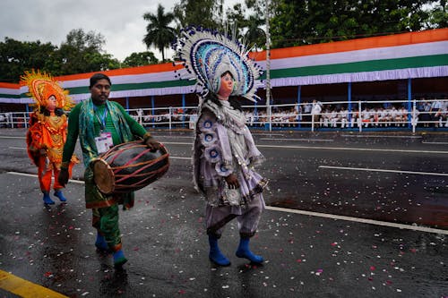
M300 47L275 48L271 50L271 59L339 53L375 47L397 47L444 40L448 40L448 28L409 32L374 38L350 39ZM266 59L265 51L250 53L250 56L256 61L263 61Z

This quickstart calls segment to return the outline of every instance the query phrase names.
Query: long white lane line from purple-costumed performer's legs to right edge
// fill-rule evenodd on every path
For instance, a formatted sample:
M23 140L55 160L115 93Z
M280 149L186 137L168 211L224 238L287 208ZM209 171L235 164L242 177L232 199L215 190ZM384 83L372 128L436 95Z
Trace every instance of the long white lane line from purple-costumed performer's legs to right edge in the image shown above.
M374 219L366 219L366 218L359 218L359 217L345 217L345 216L338 216L338 215L327 214L327 213L319 213L319 212L296 210L296 209L286 209L286 208L271 207L271 206L266 206L266 209L269 209L272 211L301 214L301 215L306 215L306 216L311 216L311 217L324 217L324 218L346 220L346 221L351 221L351 222L356 222L356 223L361 223L361 224L369 224L369 225L374 225L374 226L389 226L389 227L397 227L400 229L407 229L407 230L420 231L420 232L426 232L426 233L448 234L448 230L435 229L435 228L426 227L426 226L403 225L403 224L390 223L387 221L380 221L380 220L374 220Z

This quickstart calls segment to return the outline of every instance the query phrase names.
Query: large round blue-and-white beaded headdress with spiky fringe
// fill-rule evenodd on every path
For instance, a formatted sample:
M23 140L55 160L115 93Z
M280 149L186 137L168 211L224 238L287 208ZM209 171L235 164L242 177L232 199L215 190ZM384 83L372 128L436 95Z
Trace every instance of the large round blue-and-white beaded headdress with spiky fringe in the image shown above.
M230 95L252 101L258 99L255 95L259 87L256 80L260 77L261 69L249 58L249 49L236 38L228 38L217 31L189 27L181 31L173 49L180 59L176 64L185 66L177 77L181 80L197 80L196 91L202 98L209 92L218 93L221 75L230 72L235 80Z

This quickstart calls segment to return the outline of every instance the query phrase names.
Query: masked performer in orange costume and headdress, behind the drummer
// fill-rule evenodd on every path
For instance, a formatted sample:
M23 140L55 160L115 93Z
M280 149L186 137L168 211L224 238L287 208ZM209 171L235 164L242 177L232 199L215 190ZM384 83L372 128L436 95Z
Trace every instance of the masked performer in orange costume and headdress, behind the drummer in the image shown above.
M74 106L68 91L45 72L25 72L21 84L28 86L30 96L35 100L35 110L30 115L30 126L27 132L28 155L32 162L38 166L40 190L43 192L44 203L55 204L51 200L51 178L54 175L53 189L55 196L65 202L62 192L63 185L58 183L57 177L62 163L62 152L67 134L67 116L64 110ZM69 173L72 175L74 164L79 159L72 157Z

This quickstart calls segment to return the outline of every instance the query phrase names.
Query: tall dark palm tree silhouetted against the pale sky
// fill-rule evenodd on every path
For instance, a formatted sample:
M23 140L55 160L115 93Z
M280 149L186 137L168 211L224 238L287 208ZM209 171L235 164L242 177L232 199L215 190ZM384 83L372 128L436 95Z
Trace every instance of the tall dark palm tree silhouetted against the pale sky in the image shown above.
M157 14L144 13L143 19L149 21L146 26L146 35L143 43L146 47L154 46L162 53L162 62L165 61L164 49L176 38L175 30L168 27L171 21L174 21L174 13L164 13L164 8L159 4Z

